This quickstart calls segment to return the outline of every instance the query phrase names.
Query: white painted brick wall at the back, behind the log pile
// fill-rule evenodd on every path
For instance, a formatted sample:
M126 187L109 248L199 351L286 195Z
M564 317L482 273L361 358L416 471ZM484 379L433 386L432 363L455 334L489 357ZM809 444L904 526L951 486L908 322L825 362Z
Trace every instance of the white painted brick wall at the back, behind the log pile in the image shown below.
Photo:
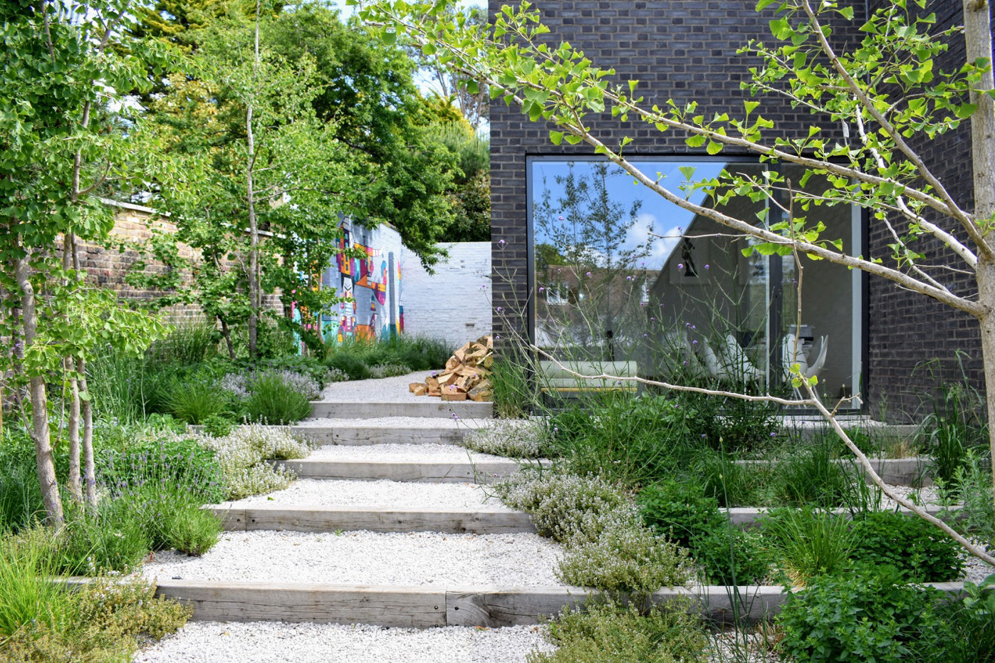
M429 275L414 253L402 264L404 332L462 345L491 333L491 243L446 245L449 260Z

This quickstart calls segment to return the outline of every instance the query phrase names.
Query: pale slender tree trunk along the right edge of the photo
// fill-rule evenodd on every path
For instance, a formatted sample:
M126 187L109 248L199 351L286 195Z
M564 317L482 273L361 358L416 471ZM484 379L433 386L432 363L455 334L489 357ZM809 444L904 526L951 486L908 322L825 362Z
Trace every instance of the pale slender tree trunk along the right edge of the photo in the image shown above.
M992 61L991 10L987 0L963 0L964 46L967 62ZM974 218L986 222L995 215L995 100L979 90L995 88L991 68L973 86L971 102L978 105L971 115L971 165L974 174ZM985 240L991 245L995 232ZM983 255L978 265L978 301L988 310L979 320L981 351L988 405L988 444L992 452L992 489L995 500L995 265Z

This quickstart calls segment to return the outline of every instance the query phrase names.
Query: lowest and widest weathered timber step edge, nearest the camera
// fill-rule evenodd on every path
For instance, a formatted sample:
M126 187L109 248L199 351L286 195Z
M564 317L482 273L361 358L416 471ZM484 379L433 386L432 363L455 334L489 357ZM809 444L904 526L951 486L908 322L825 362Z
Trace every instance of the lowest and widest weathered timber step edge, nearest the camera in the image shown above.
M941 591L963 591L962 582L926 583ZM225 582L168 579L156 592L210 621L310 621L431 628L497 628L541 623L597 592L565 585L535 587L345 585ZM719 622L735 616L755 623L780 612L787 594L780 586L696 586L661 589L650 600L690 599ZM735 609L733 606L735 605Z

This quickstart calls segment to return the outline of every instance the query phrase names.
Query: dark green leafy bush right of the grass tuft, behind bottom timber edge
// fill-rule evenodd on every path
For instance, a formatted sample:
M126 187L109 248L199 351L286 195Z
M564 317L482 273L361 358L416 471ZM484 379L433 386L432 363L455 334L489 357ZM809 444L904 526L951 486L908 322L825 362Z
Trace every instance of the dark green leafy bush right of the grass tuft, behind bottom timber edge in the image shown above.
M935 527L894 512L861 514L853 527L855 559L890 564L912 582L960 577L960 547Z

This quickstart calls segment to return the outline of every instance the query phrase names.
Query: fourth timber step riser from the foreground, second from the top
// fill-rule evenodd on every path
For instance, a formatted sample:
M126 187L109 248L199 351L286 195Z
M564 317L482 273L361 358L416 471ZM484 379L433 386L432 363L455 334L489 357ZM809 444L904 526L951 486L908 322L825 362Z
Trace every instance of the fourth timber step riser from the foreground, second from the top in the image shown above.
M318 444L362 446L370 444L459 444L481 427L476 419L452 417L380 417L361 419L308 419L291 429Z

